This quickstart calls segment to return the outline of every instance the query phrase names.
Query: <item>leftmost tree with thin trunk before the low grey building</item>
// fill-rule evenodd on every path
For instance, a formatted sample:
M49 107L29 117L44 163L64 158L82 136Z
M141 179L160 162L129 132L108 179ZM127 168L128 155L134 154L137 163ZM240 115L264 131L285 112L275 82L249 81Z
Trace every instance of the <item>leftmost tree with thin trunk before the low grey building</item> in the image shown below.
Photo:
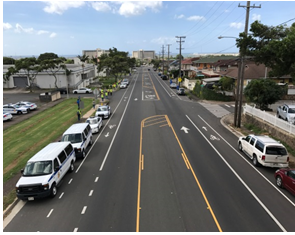
M29 89L30 92L33 92L32 85L36 79L36 76L39 72L43 70L42 66L38 64L38 61L35 57L22 58L15 61L15 66L8 68L7 73L5 74L5 79L8 80L10 76L18 74L23 76L24 74L29 79Z

